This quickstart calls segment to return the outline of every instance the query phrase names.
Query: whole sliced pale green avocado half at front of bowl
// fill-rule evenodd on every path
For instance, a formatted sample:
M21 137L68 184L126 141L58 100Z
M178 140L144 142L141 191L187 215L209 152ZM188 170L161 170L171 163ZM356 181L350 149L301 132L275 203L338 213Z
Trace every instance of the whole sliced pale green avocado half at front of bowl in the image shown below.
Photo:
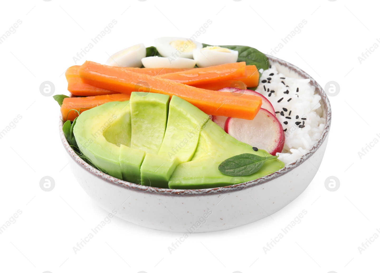
M163 94L132 92L81 113L74 126L81 152L101 171L132 183L170 189L204 189L247 182L284 167L268 160L256 173L232 177L218 166L254 151L224 132L191 103Z

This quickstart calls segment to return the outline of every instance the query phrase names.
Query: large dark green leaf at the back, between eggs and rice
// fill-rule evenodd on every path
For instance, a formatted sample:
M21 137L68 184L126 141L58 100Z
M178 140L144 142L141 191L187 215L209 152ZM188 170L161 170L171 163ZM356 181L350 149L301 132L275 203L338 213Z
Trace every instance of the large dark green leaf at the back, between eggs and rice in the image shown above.
M203 47L209 46L209 44L203 44ZM263 68L267 70L269 68L269 61L266 55L258 51L256 48L250 46L220 46L221 48L228 48L239 52L237 58L238 62L245 62L246 65L256 65L257 69Z

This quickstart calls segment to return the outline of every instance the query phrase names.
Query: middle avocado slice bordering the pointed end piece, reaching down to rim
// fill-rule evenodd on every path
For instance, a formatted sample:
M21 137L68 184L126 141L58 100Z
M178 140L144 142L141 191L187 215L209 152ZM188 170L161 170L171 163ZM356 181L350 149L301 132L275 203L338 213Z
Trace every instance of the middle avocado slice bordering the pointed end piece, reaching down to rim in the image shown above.
M198 146L199 132L209 116L191 103L173 96L169 104L168 123L157 155L147 154L141 165L144 185L168 187L178 164L192 159Z

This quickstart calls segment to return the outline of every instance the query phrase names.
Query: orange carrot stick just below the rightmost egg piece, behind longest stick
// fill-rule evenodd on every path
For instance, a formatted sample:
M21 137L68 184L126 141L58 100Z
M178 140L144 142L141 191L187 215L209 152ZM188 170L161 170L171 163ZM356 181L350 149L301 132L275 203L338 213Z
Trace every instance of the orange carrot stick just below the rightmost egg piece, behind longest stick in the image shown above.
M245 72L245 62L226 63L212 67L194 68L191 70L159 75L159 78L169 79L176 83L183 83L191 86L201 84L214 84L218 81L236 81L247 78Z

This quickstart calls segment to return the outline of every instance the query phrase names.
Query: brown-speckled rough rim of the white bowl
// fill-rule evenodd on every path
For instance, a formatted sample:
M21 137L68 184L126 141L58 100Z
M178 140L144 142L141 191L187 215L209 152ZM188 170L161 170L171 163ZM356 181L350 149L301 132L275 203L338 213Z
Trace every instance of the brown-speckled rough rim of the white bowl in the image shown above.
M267 183L269 181L272 181L273 179L285 175L289 171L293 170L294 168L301 165L303 162L305 162L307 159L309 159L310 156L312 156L318 148L322 145L324 141L326 141L329 129L331 126L331 106L329 99L323 90L323 88L313 79L310 77L309 74L307 74L305 71L301 70L300 68L296 67L295 65L288 63L284 60L278 59L276 57L266 55L269 60L271 60L272 63L279 63L282 66L287 67L290 71L295 72L299 76L305 79L310 79L310 84L312 86L315 86L315 91L318 95L321 96L321 105L324 108L324 111L326 112L326 124L325 128L321 134L321 137L318 139L318 141L312 146L312 148L300 159L296 160L295 162L291 163L290 165L282 168L281 170L275 171L274 173L271 173L269 175L263 176L261 178L247 181L244 183L234 184L231 186L225 186L225 187L215 187L211 189L163 189L163 188L156 188L156 187L150 187L150 186L142 186L140 184L130 183L127 181L123 181L121 179L114 178L113 176L107 175L106 173L103 173L100 170L97 170L96 168L93 168L91 165L86 163L84 160L82 160L78 154L70 147L68 144L65 134L62 131L63 121L62 116L60 116L59 119L59 133L62 140L62 144L65 147L66 151L68 152L69 156L78 164L81 165L86 171L91 173L94 176L97 176L98 178L108 182L115 184L116 186L121 186L129 190L138 191L138 192L146 192L150 194L165 194L165 195L183 195L183 196L193 196L193 195L214 195L214 194L223 194L223 193L232 193L232 192L239 192L245 188L250 188L254 186L261 185L263 183Z

